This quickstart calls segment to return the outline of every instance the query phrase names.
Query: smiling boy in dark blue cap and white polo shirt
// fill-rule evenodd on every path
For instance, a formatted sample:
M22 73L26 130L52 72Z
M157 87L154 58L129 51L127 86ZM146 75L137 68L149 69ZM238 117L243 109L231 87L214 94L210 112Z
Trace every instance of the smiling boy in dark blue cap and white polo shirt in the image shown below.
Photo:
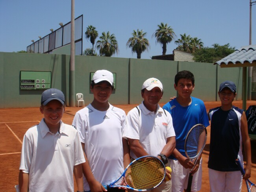
M78 132L61 121L65 97L58 89L47 89L41 97L41 122L28 129L20 158L20 192L83 191L85 162Z

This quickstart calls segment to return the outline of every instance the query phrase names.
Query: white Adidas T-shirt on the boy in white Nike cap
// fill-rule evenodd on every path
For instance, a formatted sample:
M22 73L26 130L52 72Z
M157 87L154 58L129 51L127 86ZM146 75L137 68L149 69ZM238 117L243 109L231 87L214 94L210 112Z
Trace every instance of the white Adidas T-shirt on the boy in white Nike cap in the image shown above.
M72 126L76 127L91 171L97 181L107 185L124 171L122 133L126 114L109 104L107 111L98 111L91 104L76 112ZM83 177L83 189L89 184Z

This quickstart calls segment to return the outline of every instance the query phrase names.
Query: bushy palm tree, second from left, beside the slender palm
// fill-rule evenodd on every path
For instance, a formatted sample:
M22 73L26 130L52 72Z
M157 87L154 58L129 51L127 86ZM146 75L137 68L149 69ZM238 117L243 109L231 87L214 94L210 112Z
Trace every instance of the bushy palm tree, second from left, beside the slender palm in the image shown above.
M118 54L119 52L115 35L110 35L109 31L107 33L102 33L100 40L96 42L96 47L98 50L100 50L100 56L111 57L113 54Z

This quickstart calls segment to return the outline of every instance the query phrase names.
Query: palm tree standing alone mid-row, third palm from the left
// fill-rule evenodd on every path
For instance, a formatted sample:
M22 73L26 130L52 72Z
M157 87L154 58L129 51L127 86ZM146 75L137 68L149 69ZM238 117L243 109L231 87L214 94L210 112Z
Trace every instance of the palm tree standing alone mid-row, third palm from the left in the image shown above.
M137 29L137 31L133 31L132 36L130 37L126 43L126 47L132 48L132 53L137 54L137 59L141 58L141 53L145 50L148 51L150 48L148 39L145 38L147 32L143 33L143 30Z

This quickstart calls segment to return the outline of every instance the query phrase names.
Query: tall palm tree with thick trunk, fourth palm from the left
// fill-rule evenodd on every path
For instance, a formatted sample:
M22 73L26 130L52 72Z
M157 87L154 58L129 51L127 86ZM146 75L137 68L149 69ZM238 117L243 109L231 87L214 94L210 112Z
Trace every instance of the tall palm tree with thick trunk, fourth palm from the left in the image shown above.
M162 45L163 55L165 55L167 44L173 41L176 35L171 26L168 27L168 24L164 24L163 22L161 22L161 24L158 25L158 29L156 30L156 32L153 33L152 37L153 36L156 37L156 42Z

